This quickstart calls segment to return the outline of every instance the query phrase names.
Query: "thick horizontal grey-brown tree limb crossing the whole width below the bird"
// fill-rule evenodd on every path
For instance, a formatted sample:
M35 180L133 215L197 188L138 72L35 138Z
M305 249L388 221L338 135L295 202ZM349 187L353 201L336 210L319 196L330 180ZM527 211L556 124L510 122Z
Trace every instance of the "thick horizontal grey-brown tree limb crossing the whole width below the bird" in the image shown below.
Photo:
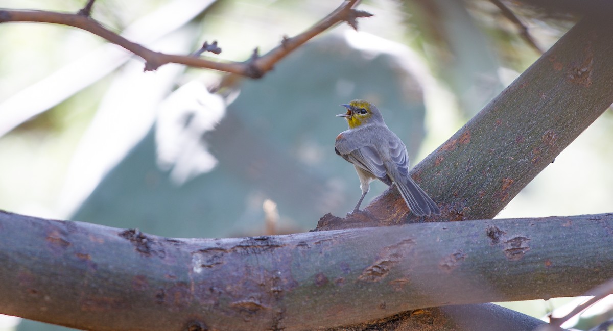
M583 294L613 277L612 234L599 214L170 239L4 212L0 313L87 330L338 327Z

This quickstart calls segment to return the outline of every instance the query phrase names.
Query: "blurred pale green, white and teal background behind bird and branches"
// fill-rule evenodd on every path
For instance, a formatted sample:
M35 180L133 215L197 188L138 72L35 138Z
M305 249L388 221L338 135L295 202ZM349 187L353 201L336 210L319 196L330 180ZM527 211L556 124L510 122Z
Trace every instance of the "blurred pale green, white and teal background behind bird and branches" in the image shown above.
M76 12L84 3L0 7ZM333 152L346 129L334 117L340 103L376 103L415 164L540 56L495 3L364 1L359 9L375 16L359 20L360 32L341 24L261 80L172 64L143 73L140 59L88 32L0 24L0 208L169 237L307 231L360 195L353 167ZM578 16L503 3L541 50ZM153 50L188 54L217 40L215 58L244 61L339 4L98 0L93 17ZM607 111L498 217L611 212L611 124ZM504 305L541 317L570 300ZM0 316L0 330L12 321ZM56 328L41 325L20 329Z

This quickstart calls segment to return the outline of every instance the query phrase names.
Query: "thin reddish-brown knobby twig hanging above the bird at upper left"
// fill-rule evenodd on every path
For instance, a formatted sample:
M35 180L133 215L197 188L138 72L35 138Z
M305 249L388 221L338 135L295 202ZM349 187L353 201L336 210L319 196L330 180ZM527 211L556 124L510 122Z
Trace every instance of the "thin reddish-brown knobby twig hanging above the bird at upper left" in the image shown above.
M0 10L0 23L2 22L40 22L40 23L53 23L63 24L68 26L74 26L75 28L89 31L95 35L109 40L109 42L115 43L128 51L140 56L145 60L145 71L156 70L161 65L167 63L185 64L191 67L200 67L206 69L218 70L221 72L234 73L236 75L247 76L250 78L260 78L264 73L270 71L276 62L283 59L287 54L294 51L303 43L307 42L311 38L332 28L341 21L346 21L354 29L357 27L356 18L370 17L370 13L362 10L353 9L357 4L357 0L350 0L343 2L340 7L335 9L323 20L319 21L307 31L302 32L294 37L284 37L281 44L276 48L268 51L268 53L257 56L245 62L233 62L233 61L211 61L208 59L194 56L194 54L202 54L204 51L216 51L221 52L220 48L216 48L216 43L211 45L205 45L194 54L191 55L177 55L166 54L156 51L152 51L138 43L131 42L130 40L116 34L113 31L105 28L98 21L93 20L89 14L91 13L91 7L94 0L89 0L85 7L78 13L60 13L50 12L46 10L12 10L4 9ZM204 49L207 48L207 49ZM208 48L212 48L209 50Z

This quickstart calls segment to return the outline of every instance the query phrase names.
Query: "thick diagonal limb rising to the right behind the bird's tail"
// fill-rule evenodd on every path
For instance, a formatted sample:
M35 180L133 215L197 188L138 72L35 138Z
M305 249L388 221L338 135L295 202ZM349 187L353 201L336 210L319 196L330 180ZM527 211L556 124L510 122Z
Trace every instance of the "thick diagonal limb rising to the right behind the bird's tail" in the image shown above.
M318 229L492 218L613 103L610 17L573 27L411 174L443 215L409 213L395 187ZM562 179L561 179L562 180Z

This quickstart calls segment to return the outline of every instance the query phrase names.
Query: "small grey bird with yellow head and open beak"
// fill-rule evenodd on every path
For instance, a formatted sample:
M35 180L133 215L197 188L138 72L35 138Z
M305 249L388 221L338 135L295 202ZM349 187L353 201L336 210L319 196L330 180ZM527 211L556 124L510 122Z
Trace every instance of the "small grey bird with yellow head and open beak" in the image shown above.
M345 117L349 129L338 134L334 151L353 163L360 179L362 196L349 214L360 212L360 204L370 190L370 182L379 179L391 186L395 184L413 214L440 215L441 210L430 196L409 176L409 158L406 146L390 130L378 108L365 100L352 100Z

